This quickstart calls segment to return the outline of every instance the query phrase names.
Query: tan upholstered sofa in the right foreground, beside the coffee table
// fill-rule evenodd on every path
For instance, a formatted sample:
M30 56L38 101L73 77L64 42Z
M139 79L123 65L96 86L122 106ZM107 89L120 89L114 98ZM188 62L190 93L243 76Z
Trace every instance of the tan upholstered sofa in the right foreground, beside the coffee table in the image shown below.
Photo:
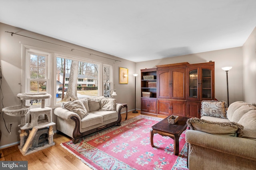
M216 113L216 110L210 109L210 112ZM202 111L201 114L201 119L191 118L187 122L191 128L186 131L188 168L255 170L256 107L245 102L234 102L228 107L227 118L225 115L207 116Z

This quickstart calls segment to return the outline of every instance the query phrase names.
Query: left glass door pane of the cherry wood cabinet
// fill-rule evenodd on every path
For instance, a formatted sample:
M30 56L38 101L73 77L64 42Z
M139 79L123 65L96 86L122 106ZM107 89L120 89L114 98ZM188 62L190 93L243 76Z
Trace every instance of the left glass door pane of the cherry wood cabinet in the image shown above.
M199 100L198 93L198 69L189 71L188 74L188 98L190 100Z

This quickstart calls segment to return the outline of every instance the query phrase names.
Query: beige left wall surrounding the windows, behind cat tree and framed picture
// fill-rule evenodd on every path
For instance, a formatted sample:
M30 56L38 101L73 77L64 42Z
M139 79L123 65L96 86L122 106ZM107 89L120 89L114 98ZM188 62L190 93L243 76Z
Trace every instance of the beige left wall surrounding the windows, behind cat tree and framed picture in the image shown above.
M33 37L35 39L40 39L44 41L48 41L50 43L38 41L35 39L30 39L27 37L22 37L20 35L11 36L10 33L5 33L5 31L14 32L20 35L25 35L28 37ZM58 45L54 45L51 43L55 43ZM24 92L24 77L22 77L22 45L29 45L33 47L40 47L49 53L59 53L73 56L80 56L87 59L91 59L92 61L100 61L107 64L113 65L114 71L114 88L116 89L116 93L118 96L115 96L117 102L127 103L128 110L134 108L134 78L132 73L135 72L135 64L132 61L124 60L118 57L114 57L111 55L107 55L104 53L100 53L98 51L94 51L91 49L86 49L84 47L80 47L77 45L73 45L70 43L66 43L64 41L59 41L50 37L46 37L44 35L39 35L30 31L26 31L17 27L12 27L10 25L6 25L0 23L0 66L2 70L2 93L0 93L0 99L3 97L3 103L0 104L0 110L2 111L3 107L8 106L16 106L20 104L20 100L16 97L18 93ZM61 47L71 47L74 49L78 49L81 51L86 51L88 53L92 53L95 55L89 55L87 53L81 53L79 51L71 51L68 48ZM98 57L97 55L108 57L115 60L110 60L102 57ZM128 68L128 84L119 84L118 72L119 67ZM55 76L55 75L53 75ZM19 84L21 83L21 84ZM52 88L54 88L52 83ZM54 95L54 94L52 94ZM55 95L54 95L55 96ZM2 102L2 101L1 101ZM54 109L54 108L53 108ZM124 112L125 109L122 109ZM1 114L3 114L1 112ZM9 145L17 144L20 141L19 133L18 133L18 125L20 124L20 117L8 116L6 114L3 115L6 121L6 126L8 127L8 123L14 122L15 129L12 130L11 135L8 133L5 127L4 120L2 115L0 115L0 129L2 132L2 138L0 141L0 149L2 147L7 147ZM56 122L56 117L52 113L52 121ZM54 131L56 128L54 127Z

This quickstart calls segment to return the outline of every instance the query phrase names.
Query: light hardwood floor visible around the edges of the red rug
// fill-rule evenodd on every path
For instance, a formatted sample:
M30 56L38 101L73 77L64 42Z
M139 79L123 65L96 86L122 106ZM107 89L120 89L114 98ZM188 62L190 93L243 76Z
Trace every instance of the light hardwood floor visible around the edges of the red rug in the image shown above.
M139 113L128 112L127 119L140 115ZM126 114L122 114L122 121ZM0 150L2 158L0 161L28 161L28 170L91 170L81 160L76 158L66 149L60 146L60 143L70 141L71 138L60 134L54 134L55 145L47 149L23 156L18 149L18 145Z

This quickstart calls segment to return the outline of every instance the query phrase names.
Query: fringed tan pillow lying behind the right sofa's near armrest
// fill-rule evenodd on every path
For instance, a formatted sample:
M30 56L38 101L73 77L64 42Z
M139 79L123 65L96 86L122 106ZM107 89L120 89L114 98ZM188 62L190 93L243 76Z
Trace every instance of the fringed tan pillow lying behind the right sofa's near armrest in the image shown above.
M187 124L192 130L211 133L214 135L236 136L244 128L242 125L235 122L214 122L204 119L190 118Z

